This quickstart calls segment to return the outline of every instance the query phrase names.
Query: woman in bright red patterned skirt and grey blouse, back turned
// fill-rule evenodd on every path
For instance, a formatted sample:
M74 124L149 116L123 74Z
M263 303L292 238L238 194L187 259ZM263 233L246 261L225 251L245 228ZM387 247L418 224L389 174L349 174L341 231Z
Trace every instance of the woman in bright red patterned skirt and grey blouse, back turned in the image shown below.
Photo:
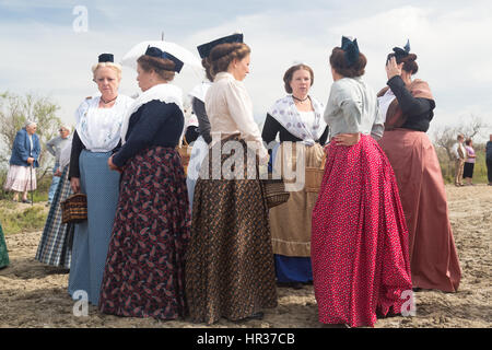
M366 59L356 40L343 37L330 65L325 120L335 137L313 210L315 296L319 322L374 326L376 313L399 314L411 304L408 231L395 175L375 140L384 119L361 78Z

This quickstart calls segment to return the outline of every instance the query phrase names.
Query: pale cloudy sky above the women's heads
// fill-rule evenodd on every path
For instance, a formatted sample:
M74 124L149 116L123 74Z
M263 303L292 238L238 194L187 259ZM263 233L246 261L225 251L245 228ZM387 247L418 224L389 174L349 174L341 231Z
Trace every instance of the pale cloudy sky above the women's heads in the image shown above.
M285 95L283 73L297 62L313 68L311 94L326 103L328 58L345 35L367 57L364 79L375 91L386 85L386 55L410 39L419 63L414 78L429 82L436 101L430 135L472 115L489 124L483 140L492 133L490 0L0 0L0 92L50 96L58 116L73 125L81 101L97 93L91 67L99 54L119 61L136 44L164 33L198 58L198 45L234 32L251 48L244 82L258 122ZM200 75L185 67L174 83L186 94ZM139 92L136 77L124 67L120 93Z

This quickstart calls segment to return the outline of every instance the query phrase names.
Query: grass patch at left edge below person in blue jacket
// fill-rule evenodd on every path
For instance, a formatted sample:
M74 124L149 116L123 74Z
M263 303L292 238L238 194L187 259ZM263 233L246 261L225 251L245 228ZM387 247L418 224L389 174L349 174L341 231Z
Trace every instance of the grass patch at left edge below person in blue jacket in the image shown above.
M0 201L0 223L4 234L40 231L45 226L48 210L43 205L22 205Z

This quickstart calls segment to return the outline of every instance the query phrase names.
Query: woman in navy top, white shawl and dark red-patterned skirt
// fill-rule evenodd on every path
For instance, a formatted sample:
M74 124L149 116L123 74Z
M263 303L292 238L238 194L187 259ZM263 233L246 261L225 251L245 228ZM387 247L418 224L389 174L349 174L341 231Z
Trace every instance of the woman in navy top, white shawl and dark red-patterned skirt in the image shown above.
M184 127L183 93L168 83L181 67L154 47L138 59L143 93L124 120L121 149L108 161L122 174L99 298L105 314L175 319L187 313L190 212L175 149Z

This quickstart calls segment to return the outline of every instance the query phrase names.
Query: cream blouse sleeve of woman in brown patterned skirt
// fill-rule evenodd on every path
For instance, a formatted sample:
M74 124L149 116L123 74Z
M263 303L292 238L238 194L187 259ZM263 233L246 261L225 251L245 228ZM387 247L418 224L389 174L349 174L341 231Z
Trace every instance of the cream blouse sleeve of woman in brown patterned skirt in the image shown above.
M232 81L227 88L225 89L225 101L231 117L236 122L243 139L256 143L260 159L268 158L268 151L263 145L261 132L253 117L251 100L245 86Z

